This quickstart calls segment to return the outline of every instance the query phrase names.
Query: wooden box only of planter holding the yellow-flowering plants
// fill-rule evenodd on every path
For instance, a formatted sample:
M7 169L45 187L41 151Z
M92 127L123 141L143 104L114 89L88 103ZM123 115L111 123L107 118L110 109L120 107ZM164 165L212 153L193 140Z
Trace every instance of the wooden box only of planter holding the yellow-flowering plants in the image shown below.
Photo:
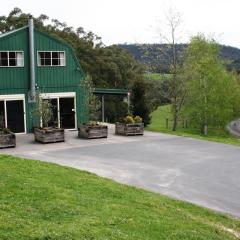
M144 124L143 123L116 123L115 134L124 136L143 135Z

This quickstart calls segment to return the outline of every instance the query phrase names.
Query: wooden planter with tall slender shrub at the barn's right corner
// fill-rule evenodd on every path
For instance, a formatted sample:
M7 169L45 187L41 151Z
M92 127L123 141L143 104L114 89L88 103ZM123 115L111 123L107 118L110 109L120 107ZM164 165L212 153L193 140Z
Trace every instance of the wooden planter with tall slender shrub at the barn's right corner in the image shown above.
M78 137L85 139L107 138L108 126L97 122L100 115L101 103L98 97L93 94L92 80L89 76L86 77L84 84L88 93L86 104L90 121L79 125Z

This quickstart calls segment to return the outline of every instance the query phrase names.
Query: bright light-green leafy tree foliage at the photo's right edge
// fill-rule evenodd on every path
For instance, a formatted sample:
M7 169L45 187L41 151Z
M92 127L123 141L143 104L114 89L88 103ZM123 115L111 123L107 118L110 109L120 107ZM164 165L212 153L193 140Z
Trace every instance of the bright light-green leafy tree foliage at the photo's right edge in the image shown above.
M240 85L236 75L226 70L219 58L219 46L199 35L192 38L184 64L187 96L184 113L191 125L204 131L206 126L224 128L240 116L237 106Z

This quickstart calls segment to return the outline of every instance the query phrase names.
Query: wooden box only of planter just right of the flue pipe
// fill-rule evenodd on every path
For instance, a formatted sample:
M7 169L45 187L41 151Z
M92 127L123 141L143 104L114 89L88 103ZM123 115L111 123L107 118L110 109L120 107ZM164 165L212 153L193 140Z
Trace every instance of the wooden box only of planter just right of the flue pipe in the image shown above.
M34 137L36 142L55 143L64 142L63 128L34 128Z

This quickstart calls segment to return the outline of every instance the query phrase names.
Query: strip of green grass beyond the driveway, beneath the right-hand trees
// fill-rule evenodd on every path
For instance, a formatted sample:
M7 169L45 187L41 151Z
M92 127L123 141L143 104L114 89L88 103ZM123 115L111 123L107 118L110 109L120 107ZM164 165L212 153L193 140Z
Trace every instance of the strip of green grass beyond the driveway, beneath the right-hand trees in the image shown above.
M171 115L171 106L161 106L156 111L152 113L152 123L146 128L150 131L170 133L179 136L193 137L203 140L222 142L226 144L232 144L240 146L240 139L232 137L226 131L219 131L214 129L209 129L209 135L204 136L200 134L199 130L183 128L183 123L179 123L178 130L173 132L171 130L172 126L172 115ZM166 128L166 118L169 119L169 127Z

